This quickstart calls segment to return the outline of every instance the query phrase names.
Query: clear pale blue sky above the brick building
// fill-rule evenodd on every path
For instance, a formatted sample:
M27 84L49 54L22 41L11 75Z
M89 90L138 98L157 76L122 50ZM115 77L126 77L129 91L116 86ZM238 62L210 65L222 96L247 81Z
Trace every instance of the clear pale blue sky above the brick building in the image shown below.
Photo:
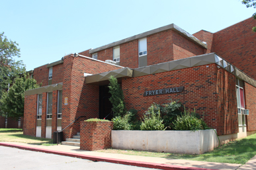
M167 24L217 32L255 12L239 0L0 2L0 32L19 43L27 71Z

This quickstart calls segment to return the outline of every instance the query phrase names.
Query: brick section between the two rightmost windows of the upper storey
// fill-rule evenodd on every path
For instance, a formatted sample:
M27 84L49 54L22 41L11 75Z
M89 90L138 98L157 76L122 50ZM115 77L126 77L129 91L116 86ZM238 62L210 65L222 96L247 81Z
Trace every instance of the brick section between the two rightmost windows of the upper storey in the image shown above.
M120 65L131 69L138 68L138 50L138 40L120 45Z

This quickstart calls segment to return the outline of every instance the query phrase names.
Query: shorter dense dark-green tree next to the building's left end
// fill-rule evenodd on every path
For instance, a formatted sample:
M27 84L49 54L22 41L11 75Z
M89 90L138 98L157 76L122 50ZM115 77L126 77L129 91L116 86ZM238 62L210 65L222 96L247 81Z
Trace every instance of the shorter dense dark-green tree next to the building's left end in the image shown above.
M24 92L39 88L34 78L30 78L29 74L21 78L15 78L13 86L9 88L9 91L3 92L2 98L0 99L3 116L19 119L24 115Z

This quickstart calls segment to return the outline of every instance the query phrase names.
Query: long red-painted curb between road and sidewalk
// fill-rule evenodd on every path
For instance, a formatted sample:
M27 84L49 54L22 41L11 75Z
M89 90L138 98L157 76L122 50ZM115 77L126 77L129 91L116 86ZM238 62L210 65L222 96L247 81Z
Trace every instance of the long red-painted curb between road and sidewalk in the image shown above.
M108 157L97 157L97 156L86 156L83 154L73 154L69 152L56 152L53 150L45 150L40 148L32 148L28 146L21 146L17 144L3 144L0 143L0 146L7 146L11 148L19 148L22 150L30 150L30 151L36 151L36 152L44 152L47 154L56 154L60 156L70 156L70 157L78 157L82 159L89 159L91 161L105 161L109 163L120 163L123 165L132 165L137 167L148 167L148 168L155 168L155 169L166 169L166 170L217 170L217 169L205 169L200 167L183 167L179 165L168 165L168 164L162 164L162 163L150 163L150 162L144 162L144 161L128 161L124 159L114 159L114 158L108 158Z

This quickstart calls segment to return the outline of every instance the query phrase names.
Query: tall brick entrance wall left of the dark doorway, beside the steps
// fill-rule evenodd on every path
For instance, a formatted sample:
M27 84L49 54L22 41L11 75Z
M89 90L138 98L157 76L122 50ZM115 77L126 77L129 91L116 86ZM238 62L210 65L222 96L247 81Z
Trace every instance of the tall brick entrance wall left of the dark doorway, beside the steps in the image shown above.
M84 72L98 74L120 69L120 67L69 55L64 59L64 68L62 128L67 127L80 116L86 116L86 118L81 118L79 121L99 117L99 86L85 84ZM64 105L65 97L68 98L67 105ZM79 121L64 130L64 139L71 138L80 131Z

